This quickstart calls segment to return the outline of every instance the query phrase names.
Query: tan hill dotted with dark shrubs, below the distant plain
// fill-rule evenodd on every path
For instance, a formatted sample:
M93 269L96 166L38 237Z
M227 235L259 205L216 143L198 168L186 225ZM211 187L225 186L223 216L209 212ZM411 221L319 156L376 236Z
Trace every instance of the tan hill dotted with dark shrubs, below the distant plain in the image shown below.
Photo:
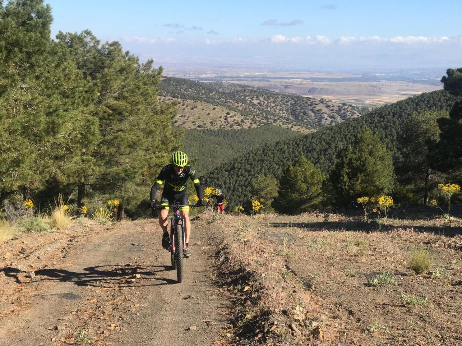
M360 115L353 108L231 83L201 83L164 77L159 95L179 101L176 125L185 128L249 128L281 125L296 131L316 130Z

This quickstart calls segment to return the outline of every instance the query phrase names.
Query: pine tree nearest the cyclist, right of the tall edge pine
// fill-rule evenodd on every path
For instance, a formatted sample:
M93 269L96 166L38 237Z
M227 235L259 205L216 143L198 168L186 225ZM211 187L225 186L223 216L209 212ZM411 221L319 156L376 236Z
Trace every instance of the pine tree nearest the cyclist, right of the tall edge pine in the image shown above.
M97 168L79 181L79 196L92 189L119 198L120 208L131 209L147 196L160 168L180 146L181 131L171 124L175 108L159 103L156 85L162 68L153 61L140 63L119 42L99 41L85 30L80 34L60 32L58 40L73 54L84 77L97 89L92 115L98 120L101 139L94 159Z

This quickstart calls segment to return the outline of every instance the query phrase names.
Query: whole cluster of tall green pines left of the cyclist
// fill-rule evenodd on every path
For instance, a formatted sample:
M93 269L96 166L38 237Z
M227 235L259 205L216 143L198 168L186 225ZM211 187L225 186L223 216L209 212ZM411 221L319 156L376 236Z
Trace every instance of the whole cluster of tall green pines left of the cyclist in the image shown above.
M180 146L163 70L89 30L51 39L52 21L42 0L0 1L0 205L21 195L44 210L62 193L133 210Z

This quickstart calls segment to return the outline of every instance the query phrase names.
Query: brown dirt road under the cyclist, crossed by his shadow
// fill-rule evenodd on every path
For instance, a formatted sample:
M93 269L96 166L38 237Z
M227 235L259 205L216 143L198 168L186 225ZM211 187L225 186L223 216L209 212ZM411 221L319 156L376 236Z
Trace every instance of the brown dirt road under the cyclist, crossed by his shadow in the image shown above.
M213 345L222 333L228 306L213 285L204 228L195 229L182 284L152 221L51 237L2 249L26 255L0 263L0 345Z

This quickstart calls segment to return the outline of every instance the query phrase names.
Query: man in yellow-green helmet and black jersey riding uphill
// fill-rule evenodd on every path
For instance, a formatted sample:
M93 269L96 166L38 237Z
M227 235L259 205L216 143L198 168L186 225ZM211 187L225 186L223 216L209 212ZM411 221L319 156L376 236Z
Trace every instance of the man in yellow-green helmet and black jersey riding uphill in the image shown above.
M162 237L162 246L165 249L169 247L169 233L167 230L168 221L167 217L169 214L169 205L173 201L177 201L180 204L189 204L188 200L188 179L193 181L196 189L197 197L199 197L198 204L206 205L207 203L203 200L204 191L202 190L199 179L195 176L195 170L192 166L187 165L188 156L182 151L176 151L170 158L170 165L165 166L160 171L156 182L151 188L151 206L156 203L157 190L165 182L164 191L160 204L165 207L160 211L159 225L164 231ZM186 250L183 251L185 257L189 257L191 252L189 251L189 235L191 231L191 223L189 222L189 207L180 208L181 217L184 218L184 231L186 236Z

